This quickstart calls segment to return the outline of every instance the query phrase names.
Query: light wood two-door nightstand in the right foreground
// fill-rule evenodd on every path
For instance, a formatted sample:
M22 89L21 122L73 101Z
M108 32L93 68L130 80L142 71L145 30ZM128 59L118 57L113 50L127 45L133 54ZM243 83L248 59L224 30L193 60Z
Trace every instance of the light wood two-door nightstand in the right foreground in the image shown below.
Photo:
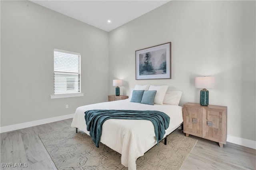
M220 147L227 140L227 107L199 103L183 105L183 132L218 142Z

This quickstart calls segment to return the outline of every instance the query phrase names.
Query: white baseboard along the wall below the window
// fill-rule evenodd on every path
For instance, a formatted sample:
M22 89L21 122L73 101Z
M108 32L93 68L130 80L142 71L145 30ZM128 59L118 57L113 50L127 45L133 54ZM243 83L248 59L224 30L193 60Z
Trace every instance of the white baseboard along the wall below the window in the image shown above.
M74 117L74 114L70 114L70 115L51 117L51 118L47 118L47 119L40 119L40 120L37 120L37 121L31 121L31 122L19 123L19 124L15 124L15 125L4 126L4 127L0 127L0 132L1 133L10 132L12 130L34 127L34 126L43 125L43 124L46 124L46 123L52 123L52 122L56 122L56 121L62 121L62 120L65 120L65 119L70 119L70 118L73 118L73 117Z

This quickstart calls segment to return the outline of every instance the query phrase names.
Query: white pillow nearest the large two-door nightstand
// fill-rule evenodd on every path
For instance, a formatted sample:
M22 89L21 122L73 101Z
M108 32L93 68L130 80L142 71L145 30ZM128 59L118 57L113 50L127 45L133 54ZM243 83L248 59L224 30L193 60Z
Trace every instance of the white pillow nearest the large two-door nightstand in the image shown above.
M180 98L182 95L182 91L166 91L164 97L164 105L176 105L178 106L180 103Z

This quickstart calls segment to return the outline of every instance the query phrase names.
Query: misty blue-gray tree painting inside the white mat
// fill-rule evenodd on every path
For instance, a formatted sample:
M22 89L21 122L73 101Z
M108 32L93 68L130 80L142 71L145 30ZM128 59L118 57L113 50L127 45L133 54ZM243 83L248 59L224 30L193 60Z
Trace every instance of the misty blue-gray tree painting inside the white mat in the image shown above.
M140 75L166 74L166 49L139 54Z

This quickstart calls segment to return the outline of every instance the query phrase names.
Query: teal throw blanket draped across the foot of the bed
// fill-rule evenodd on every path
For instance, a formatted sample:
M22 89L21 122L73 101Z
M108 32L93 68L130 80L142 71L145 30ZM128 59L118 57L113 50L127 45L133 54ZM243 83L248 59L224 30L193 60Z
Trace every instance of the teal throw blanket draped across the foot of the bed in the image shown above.
M99 147L102 134L102 125L108 119L134 119L151 121L155 128L157 144L164 137L169 127L170 117L160 111L134 111L134 110L88 110L85 113L87 130L90 131L92 141Z

